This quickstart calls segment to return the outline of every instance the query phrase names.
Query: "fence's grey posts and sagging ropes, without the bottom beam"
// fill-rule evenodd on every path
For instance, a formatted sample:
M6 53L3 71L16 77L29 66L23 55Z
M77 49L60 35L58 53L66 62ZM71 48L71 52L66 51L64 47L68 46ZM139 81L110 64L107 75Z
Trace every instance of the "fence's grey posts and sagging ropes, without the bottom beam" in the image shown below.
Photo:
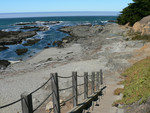
M58 78L61 78L61 79L72 78L72 86L60 89L59 85L58 85ZM77 84L77 78L83 78L84 83ZM40 90L42 87L44 87L50 80L51 80L51 85L52 85L52 92L33 110L32 95L35 92L37 92L38 90ZM73 72L72 76L58 76L57 73L52 73L51 77L42 86L40 86L39 88L37 88L36 90L32 91L29 94L22 94L21 99L18 99L10 104L1 106L0 109L11 106L11 105L16 104L17 102L21 101L22 107L23 107L22 113L34 113L46 102L46 100L48 100L48 98L50 98L52 96L53 106L54 106L53 112L60 113L61 107L60 107L60 102L59 102L60 101L59 100L59 97L60 97L59 92L73 89L72 90L73 96L68 98L64 102L68 102L72 99L73 106L76 107L76 106L78 106L78 96L81 96L84 94L84 99L88 99L89 91L91 90L91 94L95 94L95 91L97 91L99 89L100 85L103 85L102 70L100 70L100 72L97 72L97 73L92 72L91 75L89 75L88 73L84 73L83 76L77 75L77 72ZM80 86L84 86L84 91L78 94L78 90L79 90L78 87L80 87ZM96 96L97 95L98 94L96 94ZM93 99L93 98L90 97L90 99ZM29 111L29 112L27 112L27 111ZM71 113L73 113L73 112L71 112Z

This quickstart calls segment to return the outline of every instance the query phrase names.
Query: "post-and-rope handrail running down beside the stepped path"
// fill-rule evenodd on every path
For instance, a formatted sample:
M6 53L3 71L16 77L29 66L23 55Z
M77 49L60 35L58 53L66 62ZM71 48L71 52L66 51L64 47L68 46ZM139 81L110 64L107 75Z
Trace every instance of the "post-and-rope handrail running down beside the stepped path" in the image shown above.
M57 73L51 74L51 77L50 77L42 86L40 86L40 87L37 88L36 90L32 91L32 92L29 93L28 95L23 96L21 99L18 99L18 100L14 101L14 102L12 102L12 103L10 103L10 104L1 106L0 109L5 108L5 107L8 107L8 106L11 106L11 105L13 105L13 104L15 104L15 103L17 103L17 102L19 102L19 101L22 101L22 107L25 106L24 109L29 109L29 110L27 110L27 111L32 111L32 112L29 112L29 113L33 113L33 112L35 112L37 109L39 109L39 108L43 105L43 103L46 102L46 100L47 100L49 97L52 96L52 97L53 97L53 106L54 106L52 109L54 110L54 113L56 113L55 109L60 109L60 108L59 108L60 105L58 105L58 104L60 104L60 103L58 102L58 101L60 101L60 100L58 100L58 99L59 99L59 92L64 91L64 90L68 90L68 89L71 89L71 88L72 88L73 91L75 91L74 94L73 94L73 96L70 97L70 98L68 98L68 99L65 100L64 102L68 102L68 101L70 101L71 99L73 99L73 103L74 103L75 107L73 108L72 112L69 112L69 113L74 113L73 111L74 111L75 109L77 109L77 111L78 111L79 108L84 109L84 107L87 105L87 103L93 101L93 100L94 100L97 96L99 96L100 94L102 95L102 90L105 89L106 86L104 86L103 88L101 88L100 90L98 90L98 89L99 89L99 86L103 84L102 70L100 70L100 73L101 73L100 76L99 76L99 74L98 74L97 77L100 78L101 81L99 81L99 79L97 79L97 78L95 79L95 72L92 72L92 75L88 75L88 73L85 73L84 76L79 76L79 75L77 75L77 72L74 72L72 76L66 76L66 77L64 77L64 76L58 76ZM54 75L55 75L55 76L54 76ZM90 76L90 79L88 78L89 76ZM78 77L84 78L84 83L82 83L82 84L77 84L77 78L78 78ZM86 77L87 77L87 78L86 78ZM92 78L92 77L93 77L93 78ZM72 86L70 86L70 87L59 89L59 85L58 85L58 83L57 83L58 78L62 78L62 79L72 78L72 83L73 83L73 84L72 84ZM50 80L51 80L51 83L53 83L53 85L52 85L52 88L53 88L52 92L33 110L32 101L30 101L30 100L32 100L32 94L35 93L35 92L37 92L38 90L40 90L42 87L44 87ZM95 81L97 81L97 82L95 82ZM96 85L95 85L95 83L96 83ZM77 91L77 90L78 90L78 87L83 86L83 85L84 85L84 91L83 91L82 93L80 93L80 94L77 94L77 93L78 93L78 91ZM99 86L98 86L98 85L99 85ZM55 89L55 87L57 87L57 90ZM89 88L89 87L90 87L90 88ZM95 88L95 87L96 87L96 88ZM95 92L95 89L97 90L96 92ZM89 96L88 96L88 91L90 91L90 90L91 90L92 94L91 94L91 96L89 97ZM84 101L82 104L78 104L78 103L77 103L77 98L78 98L78 96L81 96L82 94L84 94L84 98L87 98L87 99L85 99L85 101ZM56 95L58 96L58 98L56 98ZM24 103L24 101L25 101L25 103ZM54 101L57 101L57 102L54 103ZM75 102L75 101L76 101L76 102ZM27 104L27 103L28 103L28 104ZM56 104L57 104L57 105L56 105ZM80 110L81 110L81 109L80 109ZM23 113L26 113L26 110L23 111Z

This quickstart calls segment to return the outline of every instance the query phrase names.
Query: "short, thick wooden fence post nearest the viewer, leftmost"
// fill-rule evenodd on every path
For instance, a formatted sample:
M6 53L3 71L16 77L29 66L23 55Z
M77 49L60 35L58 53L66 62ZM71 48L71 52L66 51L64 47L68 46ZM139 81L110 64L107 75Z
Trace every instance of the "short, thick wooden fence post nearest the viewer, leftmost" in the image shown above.
M32 94L24 92L21 94L22 113L33 113Z

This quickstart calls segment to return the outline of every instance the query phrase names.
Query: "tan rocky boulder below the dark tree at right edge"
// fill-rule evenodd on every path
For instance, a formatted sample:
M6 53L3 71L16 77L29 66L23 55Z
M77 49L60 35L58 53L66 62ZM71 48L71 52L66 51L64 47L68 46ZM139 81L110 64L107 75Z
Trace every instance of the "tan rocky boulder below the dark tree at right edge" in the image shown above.
M150 16L144 17L136 22L132 29L134 32L141 33L141 35L150 35Z

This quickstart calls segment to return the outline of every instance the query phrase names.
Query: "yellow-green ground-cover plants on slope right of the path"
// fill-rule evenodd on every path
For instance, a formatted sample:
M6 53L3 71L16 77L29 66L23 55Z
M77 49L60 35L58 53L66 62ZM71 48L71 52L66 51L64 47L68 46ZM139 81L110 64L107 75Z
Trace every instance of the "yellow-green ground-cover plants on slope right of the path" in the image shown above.
M131 105L135 102L140 104L146 102L150 96L150 57L135 63L122 73L124 81L121 84L124 85L123 90L116 89L115 92L123 94L122 100L118 100L114 103ZM118 94L118 92L116 93Z

